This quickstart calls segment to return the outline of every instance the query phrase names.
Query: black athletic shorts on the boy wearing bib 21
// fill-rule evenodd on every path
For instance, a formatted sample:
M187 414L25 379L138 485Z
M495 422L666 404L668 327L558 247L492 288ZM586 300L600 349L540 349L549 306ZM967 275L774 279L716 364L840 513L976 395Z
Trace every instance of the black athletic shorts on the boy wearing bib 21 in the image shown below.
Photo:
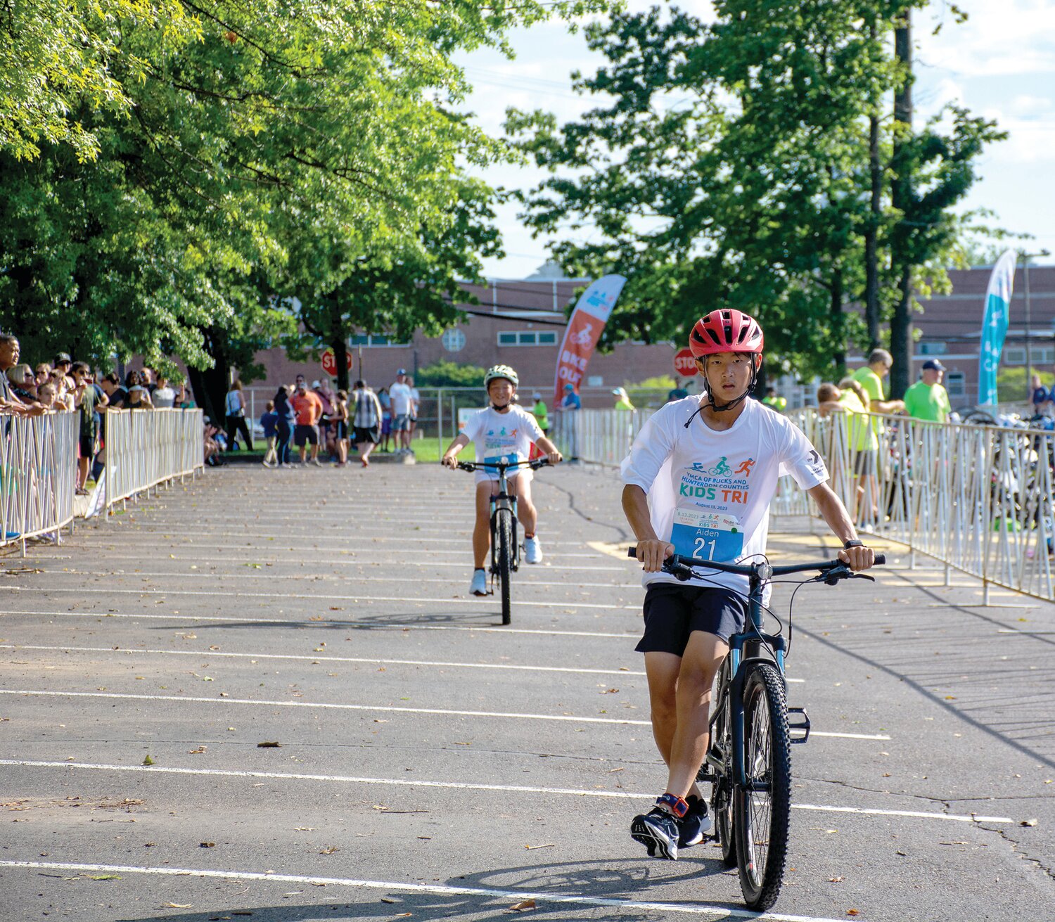
M717 585L654 582L645 593L645 634L638 653L683 656L693 631L728 640L747 620L747 601Z

